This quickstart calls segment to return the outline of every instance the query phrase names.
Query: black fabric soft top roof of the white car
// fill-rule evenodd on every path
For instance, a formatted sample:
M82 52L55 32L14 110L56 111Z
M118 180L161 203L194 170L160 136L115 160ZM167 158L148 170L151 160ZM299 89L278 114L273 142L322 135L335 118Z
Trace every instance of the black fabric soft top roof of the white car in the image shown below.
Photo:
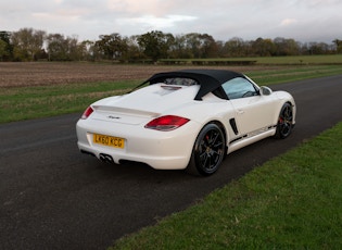
M224 83L236 77L244 78L244 75L226 70L183 70L157 73L147 79L143 84L150 83L150 85L153 85L157 83L164 83L165 79L173 77L185 77L198 82L201 87L194 100L201 100L202 97L219 88Z

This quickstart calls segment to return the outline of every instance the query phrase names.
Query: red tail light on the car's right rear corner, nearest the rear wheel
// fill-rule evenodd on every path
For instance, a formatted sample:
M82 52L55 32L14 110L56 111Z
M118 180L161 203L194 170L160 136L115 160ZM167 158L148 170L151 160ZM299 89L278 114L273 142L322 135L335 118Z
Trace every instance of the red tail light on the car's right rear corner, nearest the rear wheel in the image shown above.
M165 115L165 116L161 116L161 117L152 120L144 127L162 130L162 132L169 132L178 127L181 127L189 121L190 121L189 118L185 118L185 117L180 117L176 115Z

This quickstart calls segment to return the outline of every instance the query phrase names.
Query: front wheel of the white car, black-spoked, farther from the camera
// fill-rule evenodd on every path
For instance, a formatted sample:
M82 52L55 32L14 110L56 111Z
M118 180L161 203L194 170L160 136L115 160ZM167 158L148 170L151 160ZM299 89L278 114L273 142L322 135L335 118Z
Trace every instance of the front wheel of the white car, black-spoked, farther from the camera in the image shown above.
M284 103L279 113L275 137L278 139L284 139L291 135L292 128L293 128L293 108L290 103Z

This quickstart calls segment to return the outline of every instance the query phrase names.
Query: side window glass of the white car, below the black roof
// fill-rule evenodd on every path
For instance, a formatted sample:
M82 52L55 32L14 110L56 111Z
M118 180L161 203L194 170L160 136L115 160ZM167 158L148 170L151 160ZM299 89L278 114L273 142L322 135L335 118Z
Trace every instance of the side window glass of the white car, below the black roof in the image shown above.
M241 77L226 82L223 84L223 88L230 100L258 95L254 85L248 79Z

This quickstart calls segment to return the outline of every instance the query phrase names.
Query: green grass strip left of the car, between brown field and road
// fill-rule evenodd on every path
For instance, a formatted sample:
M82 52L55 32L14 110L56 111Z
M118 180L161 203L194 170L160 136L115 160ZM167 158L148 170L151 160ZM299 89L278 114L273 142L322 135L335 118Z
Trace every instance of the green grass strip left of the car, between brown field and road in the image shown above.
M139 80L2 88L0 123L81 112L90 103L122 95Z

